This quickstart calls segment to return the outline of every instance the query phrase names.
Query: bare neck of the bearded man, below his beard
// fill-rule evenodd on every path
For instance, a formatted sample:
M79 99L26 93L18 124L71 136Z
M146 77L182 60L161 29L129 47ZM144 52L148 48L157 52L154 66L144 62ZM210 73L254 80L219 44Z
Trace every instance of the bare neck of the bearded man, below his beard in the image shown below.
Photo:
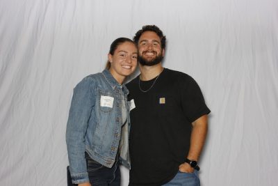
M139 64L139 68L141 72L140 79L142 81L148 81L150 79L154 79L154 77L157 77L163 71L163 66L161 65L161 63L158 63L157 65L153 65L153 66Z

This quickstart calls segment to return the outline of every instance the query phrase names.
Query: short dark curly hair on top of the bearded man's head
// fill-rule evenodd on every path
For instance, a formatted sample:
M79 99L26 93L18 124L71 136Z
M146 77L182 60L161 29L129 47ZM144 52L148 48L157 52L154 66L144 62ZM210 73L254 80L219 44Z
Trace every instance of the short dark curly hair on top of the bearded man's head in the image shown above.
M135 34L135 36L133 37L133 41L136 42L136 45L138 45L139 38L142 35L142 33L144 33L145 31L153 31L153 32L155 32L157 34L157 36L159 38L161 38L161 48L165 49L165 46L166 46L166 36L163 36L163 32L156 25L145 25L145 26L143 26L142 29L140 29Z

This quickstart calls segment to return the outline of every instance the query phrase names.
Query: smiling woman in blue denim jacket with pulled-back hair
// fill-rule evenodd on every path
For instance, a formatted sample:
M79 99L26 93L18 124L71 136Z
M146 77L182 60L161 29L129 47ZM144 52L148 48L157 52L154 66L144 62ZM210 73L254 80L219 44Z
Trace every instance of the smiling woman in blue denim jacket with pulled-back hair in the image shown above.
M118 165L129 166L129 91L122 83L136 69L137 55L132 40L117 38L106 69L74 88L66 132L74 184L120 185Z

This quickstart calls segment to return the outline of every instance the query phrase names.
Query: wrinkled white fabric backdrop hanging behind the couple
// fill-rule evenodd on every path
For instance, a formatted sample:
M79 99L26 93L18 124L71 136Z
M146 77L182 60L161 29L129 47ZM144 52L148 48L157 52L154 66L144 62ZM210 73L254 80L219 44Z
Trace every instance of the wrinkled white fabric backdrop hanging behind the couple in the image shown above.
M277 0L0 0L0 185L66 185L72 89L145 24L212 111L202 185L278 185Z

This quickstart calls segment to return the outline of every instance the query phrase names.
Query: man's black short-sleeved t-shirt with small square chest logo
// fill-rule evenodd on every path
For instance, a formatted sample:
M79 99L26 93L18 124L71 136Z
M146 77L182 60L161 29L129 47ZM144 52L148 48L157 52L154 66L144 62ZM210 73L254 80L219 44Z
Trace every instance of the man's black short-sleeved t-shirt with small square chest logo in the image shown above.
M158 79L133 79L130 112L129 185L163 185L177 174L190 146L191 123L208 114L202 92L189 75L164 68ZM131 107L132 108L132 107Z

